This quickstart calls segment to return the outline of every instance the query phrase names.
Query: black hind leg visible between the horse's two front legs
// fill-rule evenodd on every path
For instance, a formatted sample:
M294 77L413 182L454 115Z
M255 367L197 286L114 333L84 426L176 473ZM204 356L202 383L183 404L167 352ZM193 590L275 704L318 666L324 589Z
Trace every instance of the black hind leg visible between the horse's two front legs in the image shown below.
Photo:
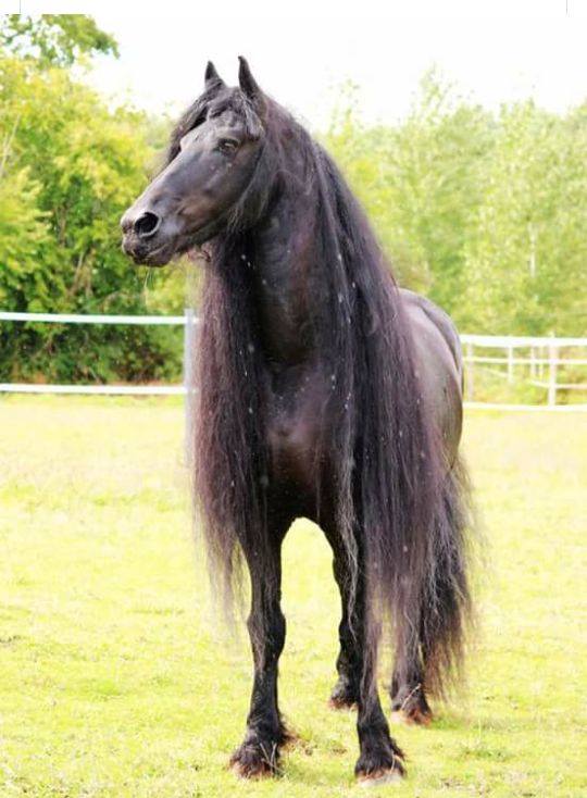
M336 660L338 681L330 695L329 706L333 709L352 709L359 702L359 684L361 681L361 651L357 645L357 637L352 634L349 602L351 576L345 552L339 540L330 540L334 551L333 571L342 604L342 618L338 626L340 651Z

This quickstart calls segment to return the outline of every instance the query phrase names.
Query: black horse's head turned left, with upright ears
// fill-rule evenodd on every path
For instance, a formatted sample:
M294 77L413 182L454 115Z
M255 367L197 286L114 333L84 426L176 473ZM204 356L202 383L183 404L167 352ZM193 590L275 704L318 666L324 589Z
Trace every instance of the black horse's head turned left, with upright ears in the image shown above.
M123 250L136 263L165 265L234 222L263 148L266 111L249 64L239 61L238 87L226 86L209 62L203 92L172 134L165 167L122 217Z

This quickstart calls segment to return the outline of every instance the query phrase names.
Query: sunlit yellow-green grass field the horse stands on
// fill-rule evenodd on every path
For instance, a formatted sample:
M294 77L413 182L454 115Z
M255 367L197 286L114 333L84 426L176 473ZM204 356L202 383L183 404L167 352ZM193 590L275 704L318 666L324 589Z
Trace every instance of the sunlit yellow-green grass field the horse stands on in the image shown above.
M174 400L0 401L1 798L364 794L354 715L326 707L338 598L304 522L286 545L280 669L300 741L278 780L226 769L250 657L211 610L182 425ZM469 693L432 728L396 730L409 777L372 794L578 798L587 415L471 413L465 448L491 564Z

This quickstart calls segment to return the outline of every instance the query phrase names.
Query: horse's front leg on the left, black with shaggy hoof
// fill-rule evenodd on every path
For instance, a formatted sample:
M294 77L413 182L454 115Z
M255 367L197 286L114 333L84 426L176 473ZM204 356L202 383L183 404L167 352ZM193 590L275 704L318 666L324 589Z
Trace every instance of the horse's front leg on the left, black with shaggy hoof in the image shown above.
M287 733L277 706L277 663L284 648L286 622L282 594L282 541L288 525L272 525L270 547L245 552L251 576L251 612L247 622L254 677L247 731L230 758L239 776L255 777L277 771L279 748Z

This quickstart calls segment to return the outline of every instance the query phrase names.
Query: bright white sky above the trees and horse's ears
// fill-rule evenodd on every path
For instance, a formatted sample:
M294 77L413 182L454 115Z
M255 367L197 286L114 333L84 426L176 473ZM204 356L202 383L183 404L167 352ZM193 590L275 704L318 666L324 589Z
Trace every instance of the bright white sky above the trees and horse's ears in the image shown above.
M278 0L0 0L1 11L18 5L92 14L117 39L121 58L99 59L90 82L153 113L177 114L191 102L208 59L235 83L239 54L266 91L314 128L328 124L349 80L366 122L404 117L433 65L492 109L533 96L564 111L587 97L587 0L387 0L385 15L384 2L372 0L297 0L290 13L276 11Z

